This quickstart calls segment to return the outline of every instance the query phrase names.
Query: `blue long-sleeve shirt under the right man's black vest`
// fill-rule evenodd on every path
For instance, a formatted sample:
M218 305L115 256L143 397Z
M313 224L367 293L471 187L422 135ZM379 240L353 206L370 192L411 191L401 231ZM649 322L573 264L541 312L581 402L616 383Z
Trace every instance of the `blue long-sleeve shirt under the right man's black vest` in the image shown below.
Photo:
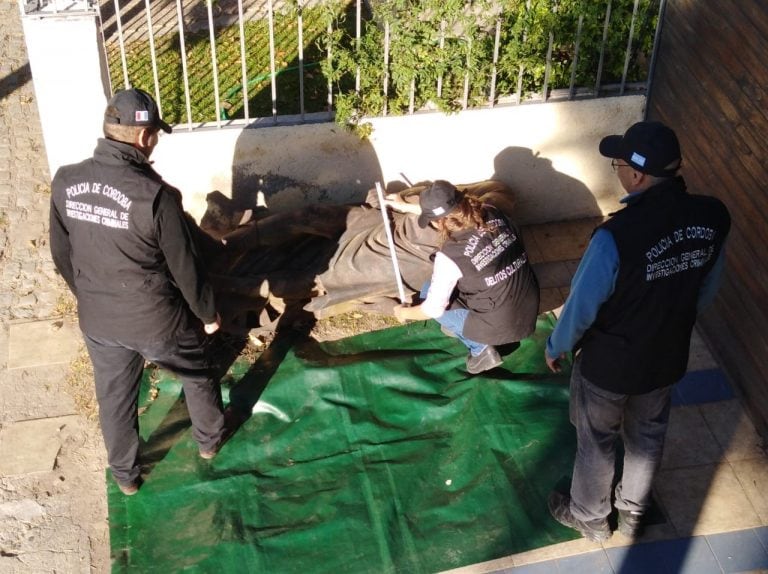
M632 196L622 199L625 202ZM725 246L704 278L696 307L700 312L715 298L725 266ZM571 280L571 292L563 306L555 330L547 339L547 356L554 359L573 347L594 323L600 306L613 294L619 273L619 251L613 235L598 229L584 252Z

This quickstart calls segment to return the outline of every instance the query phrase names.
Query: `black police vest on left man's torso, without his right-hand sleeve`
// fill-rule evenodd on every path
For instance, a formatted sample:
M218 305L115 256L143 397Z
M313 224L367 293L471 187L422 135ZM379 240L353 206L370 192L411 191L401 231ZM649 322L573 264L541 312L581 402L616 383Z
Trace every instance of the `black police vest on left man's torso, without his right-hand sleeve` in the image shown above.
M61 167L52 200L66 221L80 328L125 342L173 334L186 307L154 228L163 182L141 152L100 139L92 159Z

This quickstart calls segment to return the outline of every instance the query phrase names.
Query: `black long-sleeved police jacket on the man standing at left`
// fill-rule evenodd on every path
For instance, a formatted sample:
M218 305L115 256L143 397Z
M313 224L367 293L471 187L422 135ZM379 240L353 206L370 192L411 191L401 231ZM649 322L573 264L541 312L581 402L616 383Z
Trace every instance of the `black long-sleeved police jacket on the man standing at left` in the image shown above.
M181 194L144 154L100 139L93 158L61 167L51 187L51 253L84 333L147 342L172 336L189 310L215 320Z

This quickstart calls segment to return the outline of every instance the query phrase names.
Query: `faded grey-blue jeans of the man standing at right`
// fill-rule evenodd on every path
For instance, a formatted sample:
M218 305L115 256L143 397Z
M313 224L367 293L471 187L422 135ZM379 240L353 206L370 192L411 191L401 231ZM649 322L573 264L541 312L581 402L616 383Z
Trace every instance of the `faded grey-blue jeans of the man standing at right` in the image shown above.
M597 387L581 374L577 357L571 373L571 423L577 452L571 482L571 512L591 521L611 513L616 439L624 442L624 470L616 486L616 508L644 512L661 462L672 387L642 395L620 395Z

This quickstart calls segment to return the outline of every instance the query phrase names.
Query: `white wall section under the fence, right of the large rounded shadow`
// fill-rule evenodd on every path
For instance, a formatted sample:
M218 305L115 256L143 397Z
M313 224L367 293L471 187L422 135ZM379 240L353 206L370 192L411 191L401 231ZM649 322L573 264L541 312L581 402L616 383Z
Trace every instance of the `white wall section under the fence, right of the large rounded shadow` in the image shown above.
M636 96L377 119L372 143L387 180L498 179L517 193L520 223L575 219L618 207L623 193L597 147L644 105Z

